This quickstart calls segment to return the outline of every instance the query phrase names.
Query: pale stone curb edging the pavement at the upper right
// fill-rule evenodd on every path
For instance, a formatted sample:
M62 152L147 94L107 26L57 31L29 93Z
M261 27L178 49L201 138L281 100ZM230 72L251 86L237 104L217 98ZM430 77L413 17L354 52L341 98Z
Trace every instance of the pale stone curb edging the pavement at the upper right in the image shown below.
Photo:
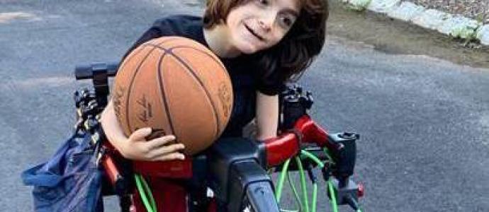
M336 0L347 3L350 8L386 14L390 18L403 20L422 28L465 40L478 40L489 46L489 24L443 11L427 9L408 1L400 0Z

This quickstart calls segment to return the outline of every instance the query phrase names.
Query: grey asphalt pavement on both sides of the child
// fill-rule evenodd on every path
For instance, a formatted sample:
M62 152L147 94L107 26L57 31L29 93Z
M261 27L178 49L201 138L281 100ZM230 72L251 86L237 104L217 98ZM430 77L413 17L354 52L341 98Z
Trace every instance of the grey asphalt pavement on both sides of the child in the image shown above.
M21 171L71 134L72 93L87 85L74 80L74 66L117 61L156 18L175 13L199 15L202 7L0 0L1 211L32 211ZM341 34L328 37L300 81L313 91L313 119L361 134L354 179L366 187L364 211L407 212L489 211L488 82L489 69L382 52ZM330 211L325 198L322 184L320 211Z

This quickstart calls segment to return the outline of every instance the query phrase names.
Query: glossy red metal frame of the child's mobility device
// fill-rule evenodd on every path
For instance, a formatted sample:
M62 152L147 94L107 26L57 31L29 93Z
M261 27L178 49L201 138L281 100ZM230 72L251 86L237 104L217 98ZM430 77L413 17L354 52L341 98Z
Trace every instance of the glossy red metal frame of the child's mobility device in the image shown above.
M284 132L280 136L264 141L268 165L270 167L280 165L288 158L292 158L300 150L301 142L335 148L331 146L334 144L327 142L327 131L317 125L308 115L304 115L298 119L293 131ZM120 175L110 155L103 158L102 165L108 172L111 182L115 184L117 176ZM145 176L157 203L157 211L188 211L186 201L189 192L184 189L180 181L192 177L191 158L165 162L135 161L133 169ZM131 211L146 211L137 189L133 194L135 194L133 195L134 207ZM215 211L215 204L211 204L208 211Z

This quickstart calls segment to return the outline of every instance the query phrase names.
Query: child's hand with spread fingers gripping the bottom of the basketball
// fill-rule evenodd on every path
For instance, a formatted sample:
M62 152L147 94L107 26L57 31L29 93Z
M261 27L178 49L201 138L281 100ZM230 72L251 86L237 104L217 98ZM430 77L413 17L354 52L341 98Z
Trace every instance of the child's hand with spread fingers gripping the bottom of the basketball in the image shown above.
M146 141L151 134L150 127L137 129L123 144L124 151L120 154L130 160L184 160L185 155L180 153L184 149L182 143L172 143L175 136L167 135Z

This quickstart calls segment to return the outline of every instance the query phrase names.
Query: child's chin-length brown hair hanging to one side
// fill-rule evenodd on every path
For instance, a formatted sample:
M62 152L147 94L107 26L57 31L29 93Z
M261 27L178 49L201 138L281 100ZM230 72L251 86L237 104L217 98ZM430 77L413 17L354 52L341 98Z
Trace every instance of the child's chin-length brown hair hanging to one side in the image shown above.
M204 28L212 28L225 21L232 8L250 0L208 0L204 13ZM265 70L266 80L274 71L279 71L281 81L295 81L320 53L325 44L327 0L299 0L299 17L282 40L269 49L257 52L252 61Z

